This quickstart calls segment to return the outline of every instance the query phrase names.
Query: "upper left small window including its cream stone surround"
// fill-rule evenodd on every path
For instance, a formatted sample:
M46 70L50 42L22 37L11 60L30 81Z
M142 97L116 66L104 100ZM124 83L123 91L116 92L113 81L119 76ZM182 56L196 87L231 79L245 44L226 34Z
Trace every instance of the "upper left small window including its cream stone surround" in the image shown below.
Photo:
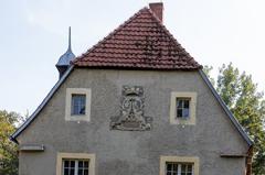
M67 88L65 100L65 120L91 120L91 89Z

